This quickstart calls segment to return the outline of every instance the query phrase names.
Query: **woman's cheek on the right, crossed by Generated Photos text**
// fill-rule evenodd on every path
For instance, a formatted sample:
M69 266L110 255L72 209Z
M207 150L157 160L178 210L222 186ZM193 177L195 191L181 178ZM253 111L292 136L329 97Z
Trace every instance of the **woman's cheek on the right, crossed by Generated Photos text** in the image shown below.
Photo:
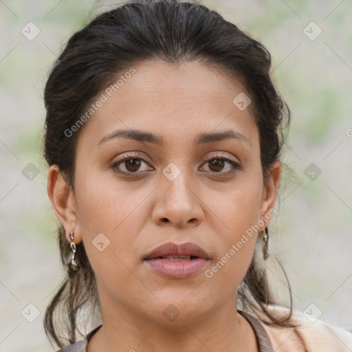
M256 245L262 188L260 180L248 179L221 201L212 201L217 217L218 255L205 272L213 287L221 286L232 293L243 280L252 261ZM225 284L225 287L223 285Z

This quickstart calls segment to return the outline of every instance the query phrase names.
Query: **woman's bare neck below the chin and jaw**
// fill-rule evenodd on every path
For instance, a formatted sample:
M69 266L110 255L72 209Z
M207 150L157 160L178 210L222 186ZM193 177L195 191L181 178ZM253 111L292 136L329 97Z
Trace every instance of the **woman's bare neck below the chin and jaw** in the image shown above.
M254 331L237 313L233 297L197 320L180 315L168 324L105 302L100 304L102 327L89 341L88 352L258 352Z

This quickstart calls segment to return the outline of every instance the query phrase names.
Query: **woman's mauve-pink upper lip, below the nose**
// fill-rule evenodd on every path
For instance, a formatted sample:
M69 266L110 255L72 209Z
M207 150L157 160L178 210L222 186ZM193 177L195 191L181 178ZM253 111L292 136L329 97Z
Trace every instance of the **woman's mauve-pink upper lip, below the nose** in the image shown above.
M164 258L168 256L197 256L199 258L210 259L205 250L192 242L181 244L173 242L164 243L152 250L144 259Z

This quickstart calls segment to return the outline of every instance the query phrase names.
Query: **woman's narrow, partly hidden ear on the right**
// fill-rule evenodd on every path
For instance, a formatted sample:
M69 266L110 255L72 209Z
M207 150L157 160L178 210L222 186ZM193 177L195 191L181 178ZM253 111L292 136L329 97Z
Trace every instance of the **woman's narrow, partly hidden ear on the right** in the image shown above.
M276 161L270 168L270 176L267 183L264 185L263 197L261 201L261 219L265 222L263 229L270 223L272 214L274 213L274 206L276 201L276 195L278 192L278 186L281 179L281 164Z

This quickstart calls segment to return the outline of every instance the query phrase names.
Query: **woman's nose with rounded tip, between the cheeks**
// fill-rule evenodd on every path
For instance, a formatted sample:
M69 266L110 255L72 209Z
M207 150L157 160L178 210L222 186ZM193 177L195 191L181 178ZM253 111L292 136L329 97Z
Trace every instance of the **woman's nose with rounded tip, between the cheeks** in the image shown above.
M203 221L201 195L189 177L184 177L184 172L173 181L162 175L157 192L152 212L152 219L157 225L183 228L199 225Z

